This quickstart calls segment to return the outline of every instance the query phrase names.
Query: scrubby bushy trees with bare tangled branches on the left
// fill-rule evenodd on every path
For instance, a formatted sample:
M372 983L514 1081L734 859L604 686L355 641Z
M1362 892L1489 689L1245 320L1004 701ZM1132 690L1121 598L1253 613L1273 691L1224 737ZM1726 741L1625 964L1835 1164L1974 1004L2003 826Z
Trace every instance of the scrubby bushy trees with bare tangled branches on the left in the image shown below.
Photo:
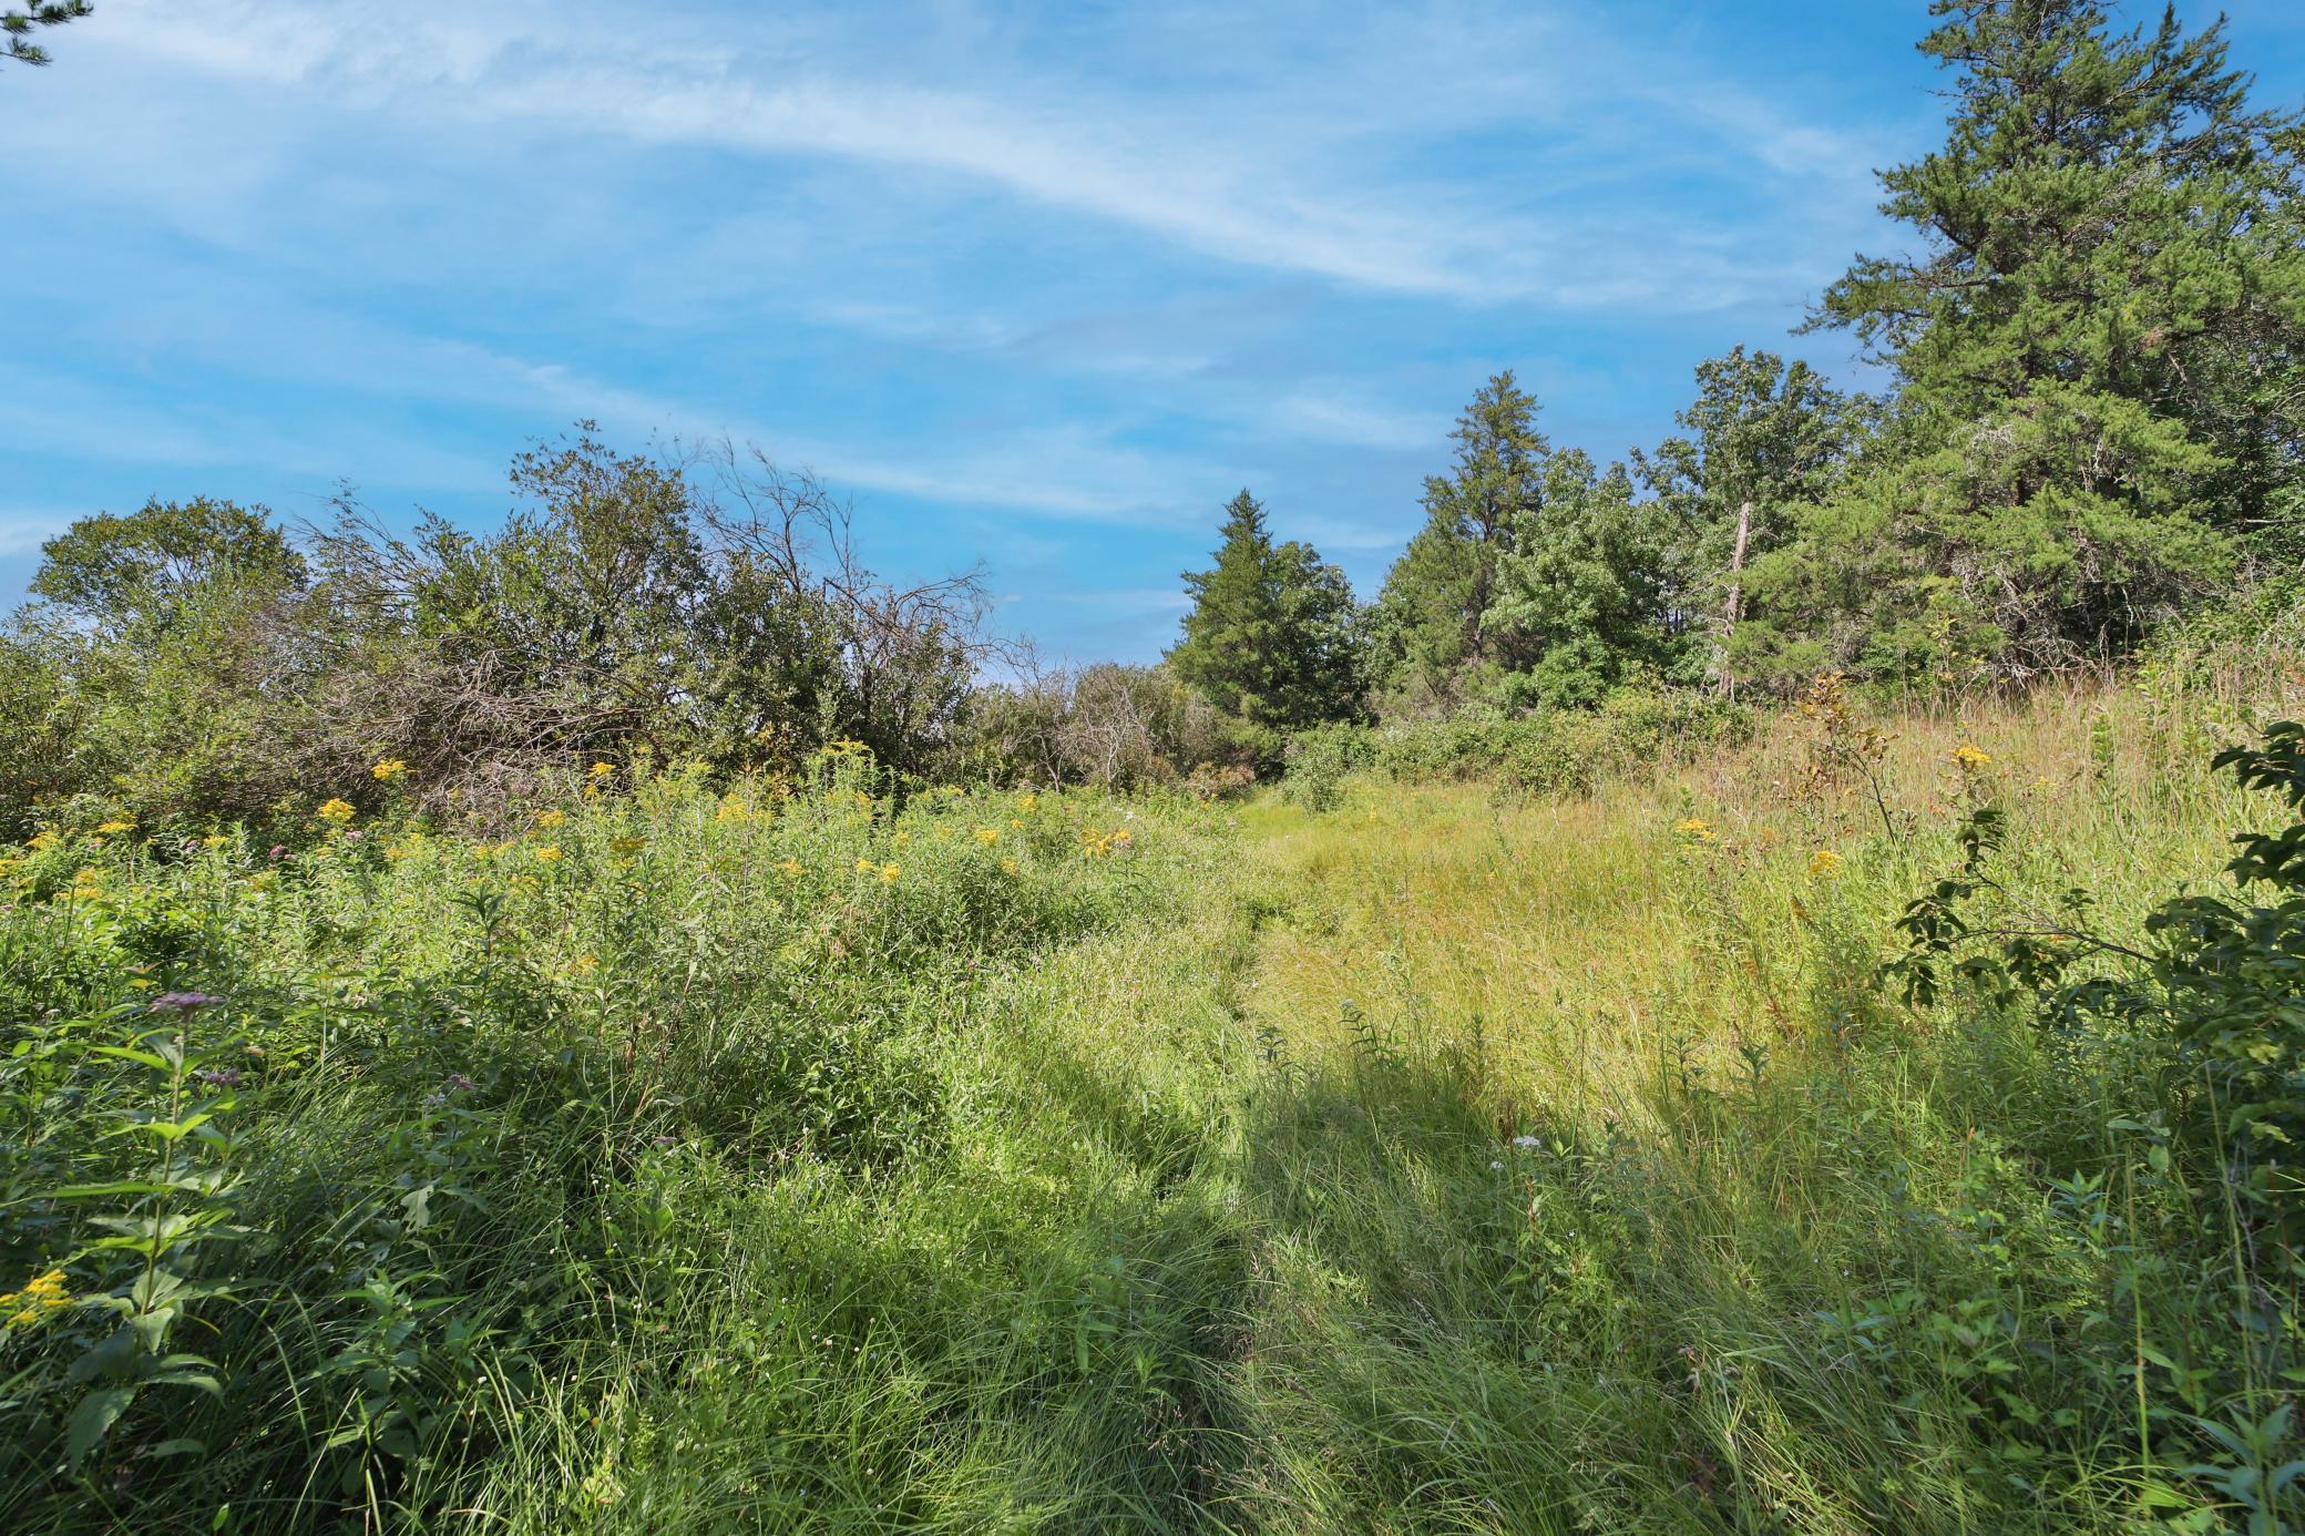
M758 454L585 434L512 484L491 535L355 505L297 540L217 500L83 519L0 641L0 812L489 819L592 763L774 775L834 740L920 773L987 660L975 577L876 577L846 505Z

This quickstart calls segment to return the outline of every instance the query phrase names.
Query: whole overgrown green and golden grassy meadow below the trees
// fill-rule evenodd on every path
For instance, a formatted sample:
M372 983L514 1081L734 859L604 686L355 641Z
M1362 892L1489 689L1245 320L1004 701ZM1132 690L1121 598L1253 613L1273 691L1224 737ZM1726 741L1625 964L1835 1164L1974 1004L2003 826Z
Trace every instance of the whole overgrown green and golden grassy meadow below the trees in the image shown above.
M1874 966L1980 796L2019 897L2208 883L2270 821L2229 724L1899 720L1879 805L1784 722L1563 800L837 759L25 851L0 1285L74 1301L0 1345L0 1529L2220 1529L2293 1282L2114 1052ZM184 1072L97 1054L166 989L224 996ZM150 1264L212 1388L90 1354L148 1268L92 1218L154 1209L217 1220Z

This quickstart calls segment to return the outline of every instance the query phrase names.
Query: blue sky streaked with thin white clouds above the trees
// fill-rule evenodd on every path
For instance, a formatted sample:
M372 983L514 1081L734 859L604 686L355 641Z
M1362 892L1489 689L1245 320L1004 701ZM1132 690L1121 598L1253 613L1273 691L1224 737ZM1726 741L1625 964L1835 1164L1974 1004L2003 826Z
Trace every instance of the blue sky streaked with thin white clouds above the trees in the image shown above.
M1602 459L1736 341L1865 383L1786 332L1899 242L1925 9L99 0L0 74L0 602L148 496L486 526L576 417L1058 660L1159 655L1242 484L1374 593L1498 367ZM2296 106L2305 5L2227 12Z

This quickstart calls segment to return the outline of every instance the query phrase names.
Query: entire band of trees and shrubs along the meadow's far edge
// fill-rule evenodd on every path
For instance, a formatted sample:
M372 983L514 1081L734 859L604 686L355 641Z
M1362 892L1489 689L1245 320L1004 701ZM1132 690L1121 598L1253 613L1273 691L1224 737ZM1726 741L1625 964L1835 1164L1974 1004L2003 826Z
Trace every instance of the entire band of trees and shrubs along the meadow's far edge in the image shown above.
M1537 750L1528 720L1720 717L1627 697L2114 667L2305 554L2305 120L2250 106L2217 25L1936 16L1945 143L1883 173L1915 254L1809 316L1885 364L1879 399L1740 346L1602 468L1498 374L1374 602L1242 491L1169 657L1065 673L998 655L975 577L871 574L841 503L731 447L539 447L489 535L92 517L0 639L0 830L293 823L353 784L486 819L592 763L777 775L832 740L915 777L1222 789L1371 720L1524 722L1554 780L1590 731Z

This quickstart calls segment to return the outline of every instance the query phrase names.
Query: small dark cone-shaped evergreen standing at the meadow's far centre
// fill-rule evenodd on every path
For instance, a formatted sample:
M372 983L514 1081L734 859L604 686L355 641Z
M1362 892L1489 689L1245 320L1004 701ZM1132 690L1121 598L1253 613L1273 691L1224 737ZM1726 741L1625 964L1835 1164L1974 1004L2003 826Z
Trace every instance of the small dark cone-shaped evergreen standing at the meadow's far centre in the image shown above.
M1300 729L1360 710L1360 613L1344 572L1300 542L1275 544L1240 491L1215 565L1185 572L1192 611L1169 667L1229 715Z

